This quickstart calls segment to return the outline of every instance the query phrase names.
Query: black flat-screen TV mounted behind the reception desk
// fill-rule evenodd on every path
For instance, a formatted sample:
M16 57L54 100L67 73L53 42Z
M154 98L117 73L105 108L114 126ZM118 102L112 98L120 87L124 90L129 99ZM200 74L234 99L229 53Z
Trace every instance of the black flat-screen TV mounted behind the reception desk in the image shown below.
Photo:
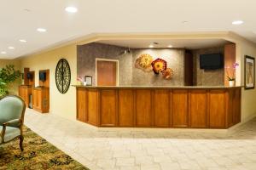
M223 68L224 61L222 54L201 54L200 68L206 70L214 70Z

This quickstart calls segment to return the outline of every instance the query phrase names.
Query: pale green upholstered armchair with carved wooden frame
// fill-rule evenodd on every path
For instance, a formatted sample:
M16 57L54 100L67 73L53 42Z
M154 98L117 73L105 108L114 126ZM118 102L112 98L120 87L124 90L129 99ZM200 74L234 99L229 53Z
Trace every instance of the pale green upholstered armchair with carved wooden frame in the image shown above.
M0 99L0 144L20 138L20 150L23 151L22 127L26 105L18 96L9 95Z

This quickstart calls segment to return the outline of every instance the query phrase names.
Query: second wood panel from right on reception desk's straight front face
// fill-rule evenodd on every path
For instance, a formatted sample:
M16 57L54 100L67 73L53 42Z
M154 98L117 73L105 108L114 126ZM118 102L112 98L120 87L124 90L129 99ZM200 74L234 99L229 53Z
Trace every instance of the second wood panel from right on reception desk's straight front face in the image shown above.
M207 90L192 90L189 94L190 127L207 127Z

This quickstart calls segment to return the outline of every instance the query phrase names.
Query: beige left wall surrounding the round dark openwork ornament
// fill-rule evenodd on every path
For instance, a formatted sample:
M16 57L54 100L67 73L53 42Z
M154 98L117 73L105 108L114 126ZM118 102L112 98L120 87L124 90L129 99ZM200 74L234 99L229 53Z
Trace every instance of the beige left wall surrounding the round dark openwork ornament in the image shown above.
M20 59L20 68L30 68L35 71L35 83L38 86L38 71L49 69L49 112L75 119L76 117L76 90L72 86L67 94L59 93L55 85L55 67L59 59L67 59L71 68L71 85L76 84L77 79L77 48L69 45L56 48L43 54L35 54Z

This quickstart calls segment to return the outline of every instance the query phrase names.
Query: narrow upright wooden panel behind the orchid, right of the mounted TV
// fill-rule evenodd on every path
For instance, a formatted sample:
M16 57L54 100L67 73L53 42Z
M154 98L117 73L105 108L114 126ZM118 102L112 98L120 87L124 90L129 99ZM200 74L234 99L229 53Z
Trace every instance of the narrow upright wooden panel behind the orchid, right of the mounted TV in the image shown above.
M233 64L236 62L236 44L229 43L224 46L224 68L230 68L230 74L233 68ZM229 80L227 78L228 73L224 71L224 85L229 86Z

